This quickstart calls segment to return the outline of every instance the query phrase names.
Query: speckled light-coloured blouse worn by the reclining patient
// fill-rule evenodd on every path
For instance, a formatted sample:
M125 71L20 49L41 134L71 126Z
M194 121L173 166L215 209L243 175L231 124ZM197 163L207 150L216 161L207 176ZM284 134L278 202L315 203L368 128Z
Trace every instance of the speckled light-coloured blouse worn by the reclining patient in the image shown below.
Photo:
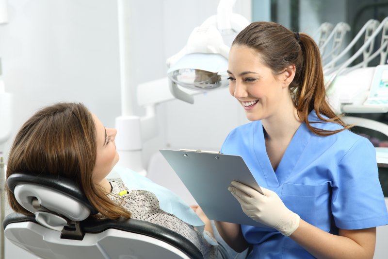
M112 191L107 196L120 207L129 210L131 218L173 230L193 242L202 252L204 259L217 258L217 246L210 245L192 225L160 209L155 194L146 190L129 190L121 181L111 181L110 183ZM121 191L126 194L123 195Z

